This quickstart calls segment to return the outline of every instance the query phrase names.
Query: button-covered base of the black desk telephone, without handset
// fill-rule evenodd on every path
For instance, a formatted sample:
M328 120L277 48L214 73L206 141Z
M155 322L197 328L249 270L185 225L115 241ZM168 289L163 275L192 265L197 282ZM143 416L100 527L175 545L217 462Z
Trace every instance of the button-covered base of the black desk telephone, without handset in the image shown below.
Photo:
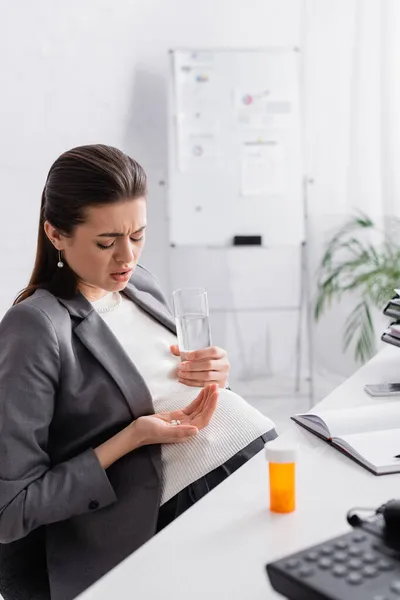
M289 600L400 600L400 553L354 530L269 563L271 585Z

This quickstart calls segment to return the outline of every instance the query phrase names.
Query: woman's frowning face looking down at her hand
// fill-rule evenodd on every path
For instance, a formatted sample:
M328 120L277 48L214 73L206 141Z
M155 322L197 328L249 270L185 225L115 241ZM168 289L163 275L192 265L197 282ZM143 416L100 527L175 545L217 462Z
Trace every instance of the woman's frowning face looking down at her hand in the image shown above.
M126 287L144 245L146 200L90 207L86 215L86 222L71 237L60 235L55 245L78 275L80 291L93 301ZM46 233L54 243L49 228L54 234L46 223Z

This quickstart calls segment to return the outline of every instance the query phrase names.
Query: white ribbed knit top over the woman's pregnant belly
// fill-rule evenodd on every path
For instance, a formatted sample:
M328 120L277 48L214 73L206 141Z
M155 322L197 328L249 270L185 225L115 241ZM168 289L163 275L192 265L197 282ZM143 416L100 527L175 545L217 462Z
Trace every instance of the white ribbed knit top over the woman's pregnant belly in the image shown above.
M110 292L92 303L144 378L154 411L182 409L201 388L177 379L179 358L171 354L176 336L134 302ZM163 444L161 504L274 427L274 423L229 390L219 391L211 422L185 443Z

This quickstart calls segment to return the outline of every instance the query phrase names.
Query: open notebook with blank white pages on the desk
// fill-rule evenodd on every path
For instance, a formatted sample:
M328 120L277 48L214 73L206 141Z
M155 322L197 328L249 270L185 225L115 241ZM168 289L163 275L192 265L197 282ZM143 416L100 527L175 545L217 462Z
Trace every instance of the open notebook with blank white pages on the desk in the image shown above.
M293 421L375 475L400 473L400 402L294 415Z

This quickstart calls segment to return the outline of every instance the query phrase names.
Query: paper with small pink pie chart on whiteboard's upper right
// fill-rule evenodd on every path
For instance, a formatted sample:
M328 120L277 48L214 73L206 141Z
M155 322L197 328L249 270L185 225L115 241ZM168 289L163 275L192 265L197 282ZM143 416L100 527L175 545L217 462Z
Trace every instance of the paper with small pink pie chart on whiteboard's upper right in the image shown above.
M285 128L293 122L293 103L269 90L235 93L235 122L244 129Z

